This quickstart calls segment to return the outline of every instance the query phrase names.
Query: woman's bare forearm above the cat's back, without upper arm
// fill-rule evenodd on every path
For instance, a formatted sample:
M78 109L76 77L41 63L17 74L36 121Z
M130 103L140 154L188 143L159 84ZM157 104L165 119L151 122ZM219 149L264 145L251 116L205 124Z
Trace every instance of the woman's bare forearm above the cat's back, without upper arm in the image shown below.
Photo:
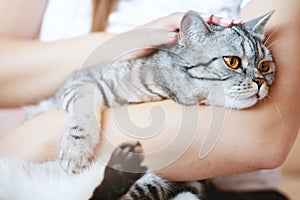
M109 37L93 33L58 42L0 37L0 106L20 106L52 95Z

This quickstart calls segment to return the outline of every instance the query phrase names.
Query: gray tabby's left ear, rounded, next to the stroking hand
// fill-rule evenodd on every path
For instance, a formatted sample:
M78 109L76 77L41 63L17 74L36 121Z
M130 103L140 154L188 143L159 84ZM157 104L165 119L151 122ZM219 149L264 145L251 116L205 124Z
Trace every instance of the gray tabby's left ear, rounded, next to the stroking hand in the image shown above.
M190 45L198 41L200 37L213 33L213 30L195 11L188 11L182 18L180 24L180 43Z

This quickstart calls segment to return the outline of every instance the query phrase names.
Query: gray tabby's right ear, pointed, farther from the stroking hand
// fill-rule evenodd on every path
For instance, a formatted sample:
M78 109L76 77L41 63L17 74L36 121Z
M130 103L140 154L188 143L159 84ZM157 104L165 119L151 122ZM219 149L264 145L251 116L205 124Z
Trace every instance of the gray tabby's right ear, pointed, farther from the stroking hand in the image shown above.
M244 23L243 26L249 32L252 32L257 35L263 35L265 26L273 13L274 13L274 11L271 11L261 17L258 17L256 19L253 19L249 22Z

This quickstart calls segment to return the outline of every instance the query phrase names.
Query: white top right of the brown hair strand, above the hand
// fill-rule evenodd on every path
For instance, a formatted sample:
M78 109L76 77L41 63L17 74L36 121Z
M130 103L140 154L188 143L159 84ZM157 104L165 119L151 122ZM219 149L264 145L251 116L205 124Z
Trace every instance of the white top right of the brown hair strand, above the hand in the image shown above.
M118 33L173 12L213 13L236 18L241 0L121 0L108 19L107 31Z

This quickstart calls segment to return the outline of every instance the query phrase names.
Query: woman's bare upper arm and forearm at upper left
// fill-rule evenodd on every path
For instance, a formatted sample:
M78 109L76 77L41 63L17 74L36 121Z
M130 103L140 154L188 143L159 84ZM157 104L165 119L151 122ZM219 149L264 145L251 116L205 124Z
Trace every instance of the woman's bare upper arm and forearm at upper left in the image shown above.
M37 39L47 0L0 0L0 107L48 97L108 36L53 43ZM53 78L55 77L55 78Z

